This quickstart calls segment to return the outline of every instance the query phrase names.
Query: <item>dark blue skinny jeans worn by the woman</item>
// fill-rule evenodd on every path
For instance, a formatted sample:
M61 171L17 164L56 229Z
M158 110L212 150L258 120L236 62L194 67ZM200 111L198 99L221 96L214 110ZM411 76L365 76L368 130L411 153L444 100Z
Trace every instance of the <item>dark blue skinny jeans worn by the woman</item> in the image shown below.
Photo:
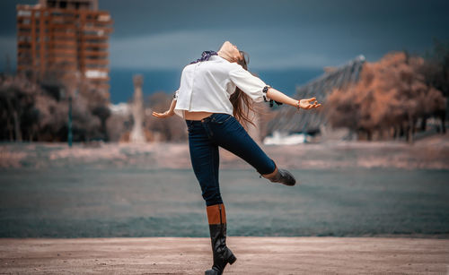
M186 120L186 124L190 160L207 206L223 203L218 184L218 146L248 162L260 175L274 172L273 159L269 159L233 116L215 113L200 121Z

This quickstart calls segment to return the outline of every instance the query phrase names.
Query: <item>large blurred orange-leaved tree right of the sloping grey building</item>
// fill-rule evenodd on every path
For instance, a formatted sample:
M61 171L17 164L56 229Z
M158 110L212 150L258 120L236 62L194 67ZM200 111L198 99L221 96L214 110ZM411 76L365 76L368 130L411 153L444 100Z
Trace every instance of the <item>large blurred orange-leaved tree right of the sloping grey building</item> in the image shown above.
M404 52L365 63L356 84L330 93L330 125L346 127L360 139L406 135L411 141L418 120L441 112L446 104L441 91L427 86L420 73L423 64L423 58Z

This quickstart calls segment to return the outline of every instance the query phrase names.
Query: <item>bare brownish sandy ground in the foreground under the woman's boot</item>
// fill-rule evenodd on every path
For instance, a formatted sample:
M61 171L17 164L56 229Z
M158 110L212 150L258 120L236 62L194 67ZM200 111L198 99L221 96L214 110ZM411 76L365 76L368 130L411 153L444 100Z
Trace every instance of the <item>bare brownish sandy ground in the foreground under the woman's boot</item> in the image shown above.
M447 274L449 240L228 237L226 274ZM0 239L1 274L204 274L208 238Z

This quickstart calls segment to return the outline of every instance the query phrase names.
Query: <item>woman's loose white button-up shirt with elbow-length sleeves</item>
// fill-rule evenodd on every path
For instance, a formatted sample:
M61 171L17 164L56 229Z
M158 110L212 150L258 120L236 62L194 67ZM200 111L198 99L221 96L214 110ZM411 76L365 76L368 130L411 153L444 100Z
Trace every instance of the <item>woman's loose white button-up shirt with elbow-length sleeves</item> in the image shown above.
M182 70L180 89L175 92L174 112L182 118L185 110L233 116L229 97L236 86L255 102L264 100L262 90L267 84L240 64L231 63L221 56L210 56L207 61L188 64Z

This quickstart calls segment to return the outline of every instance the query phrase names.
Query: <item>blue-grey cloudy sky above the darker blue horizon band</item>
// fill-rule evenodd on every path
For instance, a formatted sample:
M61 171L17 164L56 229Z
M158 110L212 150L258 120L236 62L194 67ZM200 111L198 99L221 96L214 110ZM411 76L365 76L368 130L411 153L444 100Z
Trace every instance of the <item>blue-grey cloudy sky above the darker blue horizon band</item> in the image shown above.
M15 4L0 2L0 69L15 64ZM100 0L110 11L112 68L179 69L230 40L253 69L321 68L391 50L423 54L449 39L449 1Z

